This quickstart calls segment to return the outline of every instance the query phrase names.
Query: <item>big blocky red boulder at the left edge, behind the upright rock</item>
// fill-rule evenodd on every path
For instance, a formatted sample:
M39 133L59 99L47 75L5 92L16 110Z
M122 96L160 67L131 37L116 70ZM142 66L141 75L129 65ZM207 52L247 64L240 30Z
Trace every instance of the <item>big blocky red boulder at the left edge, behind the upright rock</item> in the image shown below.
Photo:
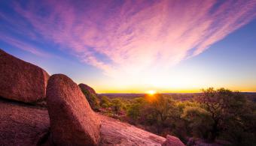
M33 103L45 97L49 75L0 49L0 97Z

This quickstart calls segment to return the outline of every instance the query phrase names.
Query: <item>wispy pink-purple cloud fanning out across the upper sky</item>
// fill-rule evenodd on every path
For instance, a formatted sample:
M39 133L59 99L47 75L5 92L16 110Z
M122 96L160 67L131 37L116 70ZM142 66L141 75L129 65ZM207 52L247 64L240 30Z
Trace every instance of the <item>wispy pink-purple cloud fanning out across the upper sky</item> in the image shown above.
M13 7L31 25L23 31L33 40L56 43L109 76L169 68L256 16L255 0L31 1Z

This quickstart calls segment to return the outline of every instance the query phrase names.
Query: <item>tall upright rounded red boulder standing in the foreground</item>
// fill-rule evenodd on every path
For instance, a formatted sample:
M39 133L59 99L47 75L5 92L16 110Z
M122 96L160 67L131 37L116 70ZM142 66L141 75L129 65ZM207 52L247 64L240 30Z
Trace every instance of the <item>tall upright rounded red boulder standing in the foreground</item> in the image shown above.
M100 121L81 89L68 76L50 76L47 106L50 132L56 145L98 144Z

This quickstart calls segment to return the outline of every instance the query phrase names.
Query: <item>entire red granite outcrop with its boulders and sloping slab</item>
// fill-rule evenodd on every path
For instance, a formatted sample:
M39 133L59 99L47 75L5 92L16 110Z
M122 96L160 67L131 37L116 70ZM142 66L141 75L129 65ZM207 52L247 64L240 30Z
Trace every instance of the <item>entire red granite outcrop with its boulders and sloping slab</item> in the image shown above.
M184 145L93 112L68 76L49 79L1 49L0 67L0 145Z

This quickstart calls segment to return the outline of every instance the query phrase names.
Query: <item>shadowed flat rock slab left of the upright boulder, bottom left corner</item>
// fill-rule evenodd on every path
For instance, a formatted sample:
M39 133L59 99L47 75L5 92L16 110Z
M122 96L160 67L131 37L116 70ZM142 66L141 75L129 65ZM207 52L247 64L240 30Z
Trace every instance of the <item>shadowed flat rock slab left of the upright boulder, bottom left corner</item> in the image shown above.
M0 99L0 145L39 145L49 129L47 109Z

